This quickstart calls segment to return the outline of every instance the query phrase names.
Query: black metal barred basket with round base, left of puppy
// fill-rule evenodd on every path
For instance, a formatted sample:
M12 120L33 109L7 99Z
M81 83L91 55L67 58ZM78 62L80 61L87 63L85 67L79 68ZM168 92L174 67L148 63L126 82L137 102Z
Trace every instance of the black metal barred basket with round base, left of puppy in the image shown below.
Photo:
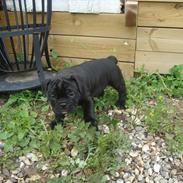
M48 52L52 0L41 0L41 10L36 2L32 0L28 12L26 0L12 0L11 10L6 0L1 1L0 92L37 87L53 75L48 71L52 70Z

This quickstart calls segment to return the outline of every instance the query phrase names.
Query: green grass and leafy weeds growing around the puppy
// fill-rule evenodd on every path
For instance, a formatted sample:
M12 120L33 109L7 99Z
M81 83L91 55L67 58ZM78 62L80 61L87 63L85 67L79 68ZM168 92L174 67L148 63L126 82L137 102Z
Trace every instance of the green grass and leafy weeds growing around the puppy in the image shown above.
M136 108L143 114L143 125L149 133L166 139L171 151L183 153L182 121L177 117L171 98L183 96L183 66L175 66L170 74L147 74L144 71L127 81L127 108ZM106 174L113 174L125 166L123 154L130 150L130 140L125 130L119 130L119 119L107 115L115 109L117 92L107 88L105 95L95 100L99 124L107 124L110 132L97 132L82 120L82 110L66 117L66 126L50 130L53 116L50 106L40 91L23 91L10 95L0 108L0 140L5 142L0 166L14 169L16 158L35 152L42 155L40 162L48 162L49 171L65 169L67 177L49 180L56 182L106 182ZM155 105L149 105L154 100ZM129 125L135 125L128 119ZM75 156L71 151L75 150ZM41 170L38 170L41 171Z

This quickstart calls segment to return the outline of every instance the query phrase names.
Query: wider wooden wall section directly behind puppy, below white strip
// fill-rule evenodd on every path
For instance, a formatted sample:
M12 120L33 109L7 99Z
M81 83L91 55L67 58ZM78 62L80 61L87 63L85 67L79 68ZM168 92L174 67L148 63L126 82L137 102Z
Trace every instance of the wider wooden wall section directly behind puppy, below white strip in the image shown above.
M49 47L73 63L114 55L126 78L133 76L136 28L124 14L53 13Z

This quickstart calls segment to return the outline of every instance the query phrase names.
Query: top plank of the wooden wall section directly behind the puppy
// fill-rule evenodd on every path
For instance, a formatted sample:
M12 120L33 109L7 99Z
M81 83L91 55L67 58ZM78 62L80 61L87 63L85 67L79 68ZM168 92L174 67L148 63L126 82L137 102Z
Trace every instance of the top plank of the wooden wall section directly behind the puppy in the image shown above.
M54 12L51 34L136 38L136 28L125 26L124 14Z

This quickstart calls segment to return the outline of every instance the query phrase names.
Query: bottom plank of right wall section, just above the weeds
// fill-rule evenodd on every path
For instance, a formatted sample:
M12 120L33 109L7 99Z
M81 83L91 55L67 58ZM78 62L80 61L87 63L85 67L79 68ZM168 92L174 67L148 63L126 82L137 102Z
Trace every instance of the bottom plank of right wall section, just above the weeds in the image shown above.
M159 71L165 74L171 67L179 64L183 64L183 54L181 53L136 52L135 69L144 65L148 72Z

